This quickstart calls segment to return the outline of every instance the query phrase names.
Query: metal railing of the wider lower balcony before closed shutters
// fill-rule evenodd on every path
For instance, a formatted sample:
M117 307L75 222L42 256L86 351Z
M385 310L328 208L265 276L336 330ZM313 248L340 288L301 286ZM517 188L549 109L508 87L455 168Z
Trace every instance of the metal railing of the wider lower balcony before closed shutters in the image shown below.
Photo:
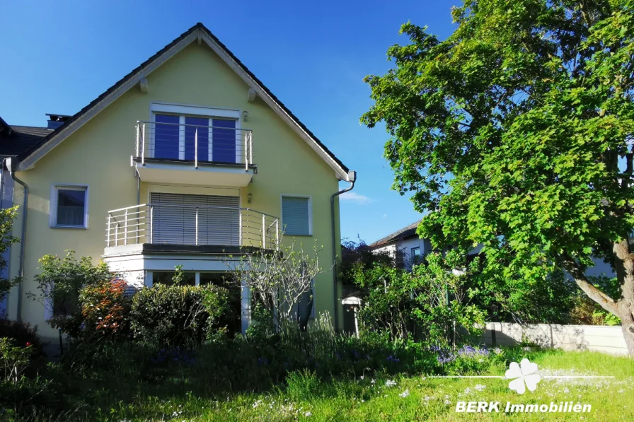
M270 247L279 218L248 208L141 204L108 211L106 247L142 243Z

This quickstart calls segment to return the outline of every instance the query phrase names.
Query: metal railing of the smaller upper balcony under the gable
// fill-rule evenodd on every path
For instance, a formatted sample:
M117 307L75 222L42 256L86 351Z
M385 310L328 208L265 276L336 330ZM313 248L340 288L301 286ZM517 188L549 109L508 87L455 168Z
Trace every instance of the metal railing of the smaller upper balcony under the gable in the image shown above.
M231 122L234 120L219 120ZM220 124L220 123L214 123ZM253 165L253 131L196 124L137 122L135 157L142 165L146 158L199 163Z

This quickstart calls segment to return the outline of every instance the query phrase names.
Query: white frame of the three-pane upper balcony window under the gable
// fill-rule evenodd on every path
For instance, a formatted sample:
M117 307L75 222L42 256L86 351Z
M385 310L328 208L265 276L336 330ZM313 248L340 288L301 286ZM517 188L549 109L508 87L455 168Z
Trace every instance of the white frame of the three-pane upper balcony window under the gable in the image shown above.
M150 103L150 122L156 123L156 115L175 115L179 117L178 124L178 159L185 160L185 117L207 117L207 126L213 127L214 119L226 119L236 121L236 164L244 164L243 152L241 153L241 140L239 137L243 134L241 110L217 107L205 107L202 105L173 104L169 102L151 102ZM207 160L213 161L212 156L212 131L209 132L207 146ZM150 151L154 151L154 131L150 135ZM154 158L154 156L149 157Z

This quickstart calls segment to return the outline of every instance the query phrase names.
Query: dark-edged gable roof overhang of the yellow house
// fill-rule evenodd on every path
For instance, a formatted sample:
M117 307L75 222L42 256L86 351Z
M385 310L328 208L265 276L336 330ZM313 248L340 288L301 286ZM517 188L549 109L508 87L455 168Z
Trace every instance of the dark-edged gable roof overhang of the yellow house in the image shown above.
M57 146L66 139L70 134L79 129L89 119L94 117L100 110L113 102L120 95L135 86L142 78L147 76L163 64L167 59L173 57L191 42L197 40L199 43L204 41L216 52L226 64L231 67L238 76L241 76L250 88L255 89L256 93L262 98L267 105L272 107L282 120L287 122L289 126L301 136L304 141L309 143L323 160L335 170L335 173L342 180L350 181L350 169L348 169L299 119L289 110L273 93L258 79L220 40L212 34L202 23L197 23L192 28L181 34L180 37L166 45L159 52L154 54L136 69L124 76L115 85L108 88L105 93L99 95L90 104L83 107L79 112L69 118L64 124L47 134L44 139L30 146L26 151L18 156L20 169L32 167L37 160L42 158L48 151Z

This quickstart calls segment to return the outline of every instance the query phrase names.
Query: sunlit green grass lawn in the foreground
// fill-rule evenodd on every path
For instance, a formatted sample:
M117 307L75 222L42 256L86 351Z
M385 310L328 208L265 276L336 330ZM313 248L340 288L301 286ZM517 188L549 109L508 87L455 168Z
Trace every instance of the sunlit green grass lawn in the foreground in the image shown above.
M357 374L348 380L320 382L299 373L287 387L263 394L195 397L193 394L147 396L99 409L94 416L111 421L634 421L634 361L601 353L522 351L544 376L612 375L613 379L543 378L534 392L517 394L508 380L447 379L425 376ZM483 375L504 375L495 364ZM396 385L391 385L392 382ZM386 383L388 385L386 385ZM186 389L186 386L183 386ZM185 391L183 389L183 391ZM501 402L500 413L456 413L456 402ZM505 414L512 404L575 402L589 413Z

